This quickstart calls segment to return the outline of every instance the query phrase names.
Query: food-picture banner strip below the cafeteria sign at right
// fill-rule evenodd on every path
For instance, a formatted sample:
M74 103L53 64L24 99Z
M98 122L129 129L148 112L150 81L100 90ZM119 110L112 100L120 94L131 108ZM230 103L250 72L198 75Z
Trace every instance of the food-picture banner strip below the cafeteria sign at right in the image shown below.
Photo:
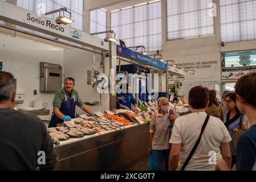
M222 68L222 80L239 79L244 75L255 73L256 66Z

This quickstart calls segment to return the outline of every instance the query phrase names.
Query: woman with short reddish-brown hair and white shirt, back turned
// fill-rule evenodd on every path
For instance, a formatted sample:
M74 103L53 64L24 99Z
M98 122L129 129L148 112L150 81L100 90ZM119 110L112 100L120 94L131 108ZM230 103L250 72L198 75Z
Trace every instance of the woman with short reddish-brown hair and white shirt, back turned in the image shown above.
M209 102L209 90L202 86L192 88L189 91L188 101L192 114L181 116L174 122L170 138L170 143L172 143L169 158L170 170L182 169L200 136L202 126L207 121L205 109ZM210 116L196 151L188 165L184 166L185 170L215 170L216 160L222 158L230 166L230 140L231 137L224 123L220 119Z

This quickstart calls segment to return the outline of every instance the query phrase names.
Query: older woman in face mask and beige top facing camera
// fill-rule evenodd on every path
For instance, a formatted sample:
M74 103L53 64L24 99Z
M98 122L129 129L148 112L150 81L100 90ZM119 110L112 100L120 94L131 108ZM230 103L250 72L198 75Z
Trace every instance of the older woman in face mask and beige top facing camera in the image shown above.
M170 130L168 126L171 124L168 110L168 98L159 98L158 111L152 115L149 133L149 152L152 152L154 171L168 170L170 153ZM165 163L165 168L163 168L163 163Z

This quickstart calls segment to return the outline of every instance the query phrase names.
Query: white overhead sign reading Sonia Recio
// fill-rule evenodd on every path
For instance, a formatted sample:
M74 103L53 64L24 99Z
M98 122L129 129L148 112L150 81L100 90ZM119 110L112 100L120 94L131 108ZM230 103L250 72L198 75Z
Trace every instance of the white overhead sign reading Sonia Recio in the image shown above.
M109 43L103 39L87 34L64 24L58 24L54 19L39 16L32 11L0 1L0 20L21 27L29 28L60 39L68 40L86 47L109 50Z

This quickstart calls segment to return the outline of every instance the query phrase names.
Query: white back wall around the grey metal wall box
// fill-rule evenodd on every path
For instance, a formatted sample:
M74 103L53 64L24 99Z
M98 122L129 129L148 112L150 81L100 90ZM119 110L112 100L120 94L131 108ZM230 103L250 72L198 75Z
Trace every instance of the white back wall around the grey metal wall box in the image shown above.
M54 93L39 92L39 62L63 65L63 49L16 36L0 34L0 60L3 71L13 73L20 88L25 89L25 101L20 106L31 106L34 100L48 102L52 112ZM34 96L34 90L37 95Z

